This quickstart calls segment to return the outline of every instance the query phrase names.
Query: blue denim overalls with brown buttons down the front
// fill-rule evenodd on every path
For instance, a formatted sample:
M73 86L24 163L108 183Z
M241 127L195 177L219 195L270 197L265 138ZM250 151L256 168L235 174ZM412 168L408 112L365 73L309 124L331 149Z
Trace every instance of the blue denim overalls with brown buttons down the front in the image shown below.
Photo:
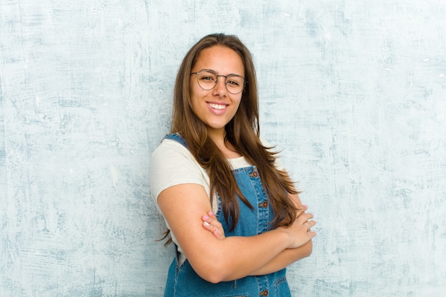
M180 135L167 135L167 139L176 140L187 147L185 140ZM271 230L269 222L273 219L273 211L261 184L259 172L255 166L239 168L232 171L237 184L244 196L254 209L249 209L239 200L240 216L234 231L229 231L229 226L224 219L222 204L218 197L217 219L223 225L224 235L229 236L254 236ZM175 249L176 250L176 249ZM209 259L209 261L212 261ZM170 265L167 275L165 297L230 297L230 296L291 296L288 282L285 277L286 269L264 276L247 276L237 281L222 281L209 283L192 269L187 259L179 264L178 255Z

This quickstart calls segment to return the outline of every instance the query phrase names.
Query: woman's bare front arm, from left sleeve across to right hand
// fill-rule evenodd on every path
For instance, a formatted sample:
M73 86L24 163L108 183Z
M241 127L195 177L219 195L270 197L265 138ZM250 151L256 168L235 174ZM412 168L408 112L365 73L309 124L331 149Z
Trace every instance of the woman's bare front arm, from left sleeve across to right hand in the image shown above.
M293 199L301 205L297 195ZM199 184L169 187L157 202L192 268L212 283L278 271L309 256L311 239L316 236L307 227L316 224L308 221L313 215L303 212L287 228L256 236L217 238L202 227L202 214L207 214L211 205Z

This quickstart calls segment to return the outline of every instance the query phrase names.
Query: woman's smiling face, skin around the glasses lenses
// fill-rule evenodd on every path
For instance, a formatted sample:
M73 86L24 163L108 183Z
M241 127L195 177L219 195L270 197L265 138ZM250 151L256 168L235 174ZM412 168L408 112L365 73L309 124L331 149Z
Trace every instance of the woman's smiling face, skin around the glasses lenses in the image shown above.
M217 75L241 75L244 77L242 58L231 48L212 46L205 48L198 56L191 73L204 69ZM190 76L190 97L192 110L202 120L211 135L224 135L224 126L234 118L240 105L242 93L229 93L225 85L225 77L217 77L217 85L211 90L204 90L197 82L197 75ZM230 88L228 86L228 88Z

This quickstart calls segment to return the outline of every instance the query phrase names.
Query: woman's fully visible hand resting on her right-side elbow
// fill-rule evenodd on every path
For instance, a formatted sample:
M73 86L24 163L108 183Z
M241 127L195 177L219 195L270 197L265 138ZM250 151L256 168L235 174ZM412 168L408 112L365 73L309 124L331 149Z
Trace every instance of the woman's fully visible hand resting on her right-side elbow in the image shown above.
M297 213L296 220L291 226L277 228L288 234L291 239L291 243L288 246L289 249L303 246L316 236L316 232L311 231L311 228L316 224L316 221L308 221L313 219L313 214L306 213L306 209L308 209L308 207L304 206L304 209Z

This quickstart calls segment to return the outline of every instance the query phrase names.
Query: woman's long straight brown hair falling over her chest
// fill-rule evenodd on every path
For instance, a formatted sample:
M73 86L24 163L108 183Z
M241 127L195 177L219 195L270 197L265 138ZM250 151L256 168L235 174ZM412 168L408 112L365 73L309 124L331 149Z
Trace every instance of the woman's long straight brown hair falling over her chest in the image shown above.
M288 194L295 194L296 190L286 174L274 167L276 153L271 152L271 147L264 147L259 139L259 103L254 63L248 48L237 36L210 34L204 36L187 52L175 82L170 132L182 135L192 155L209 174L211 196L214 196L213 192L219 194L224 218L234 229L239 221L237 197L249 207L252 206L240 191L226 158L209 137L206 125L193 112L190 98L192 67L204 48L212 46L226 46L235 51L242 58L247 80L237 113L225 127L224 141L229 142L259 170L269 203L274 210L272 226L289 226L296 219L297 209Z

